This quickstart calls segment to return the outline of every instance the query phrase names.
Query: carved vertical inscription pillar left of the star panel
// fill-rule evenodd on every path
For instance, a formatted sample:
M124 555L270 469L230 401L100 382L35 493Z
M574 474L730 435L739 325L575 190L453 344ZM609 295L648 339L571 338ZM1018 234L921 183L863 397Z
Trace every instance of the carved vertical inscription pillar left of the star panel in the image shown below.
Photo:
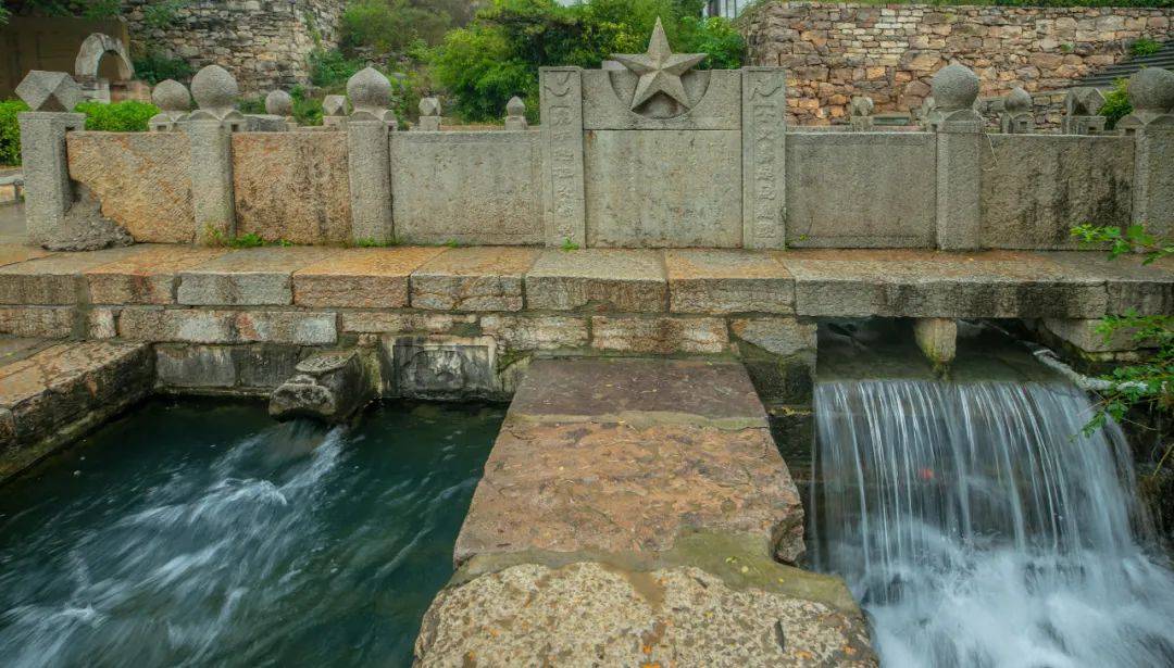
M542 230L547 245L587 243L583 203L582 70L539 68Z

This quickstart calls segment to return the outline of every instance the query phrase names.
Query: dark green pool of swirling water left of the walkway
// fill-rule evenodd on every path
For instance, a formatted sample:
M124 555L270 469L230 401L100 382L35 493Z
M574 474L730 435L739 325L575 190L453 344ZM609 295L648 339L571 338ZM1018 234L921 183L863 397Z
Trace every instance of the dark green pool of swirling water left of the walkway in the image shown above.
M0 488L0 662L406 666L502 418L143 404Z

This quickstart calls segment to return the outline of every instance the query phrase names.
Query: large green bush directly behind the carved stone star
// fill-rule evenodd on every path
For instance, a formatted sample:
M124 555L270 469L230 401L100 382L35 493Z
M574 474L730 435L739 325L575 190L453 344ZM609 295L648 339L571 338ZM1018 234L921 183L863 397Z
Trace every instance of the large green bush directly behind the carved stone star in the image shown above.
M599 67L613 53L642 53L657 16L677 52L709 54L700 67L736 68L745 42L724 19L701 20L696 0L494 0L432 52L437 81L465 121L499 120L510 97L538 113L538 68Z

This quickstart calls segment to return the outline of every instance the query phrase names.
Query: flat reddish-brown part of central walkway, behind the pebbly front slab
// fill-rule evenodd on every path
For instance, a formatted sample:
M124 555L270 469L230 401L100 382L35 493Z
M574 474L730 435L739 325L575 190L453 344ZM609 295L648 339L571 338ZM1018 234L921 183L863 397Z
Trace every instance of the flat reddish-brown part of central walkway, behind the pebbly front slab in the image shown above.
M803 553L803 508L735 363L537 360L485 465L454 559L660 553L689 532Z

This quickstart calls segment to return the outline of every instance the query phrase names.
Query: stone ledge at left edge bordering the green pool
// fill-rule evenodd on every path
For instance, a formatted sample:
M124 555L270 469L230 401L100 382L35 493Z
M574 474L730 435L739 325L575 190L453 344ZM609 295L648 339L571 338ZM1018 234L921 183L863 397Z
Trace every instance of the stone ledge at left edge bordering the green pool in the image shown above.
M141 343L0 339L0 483L147 396Z

